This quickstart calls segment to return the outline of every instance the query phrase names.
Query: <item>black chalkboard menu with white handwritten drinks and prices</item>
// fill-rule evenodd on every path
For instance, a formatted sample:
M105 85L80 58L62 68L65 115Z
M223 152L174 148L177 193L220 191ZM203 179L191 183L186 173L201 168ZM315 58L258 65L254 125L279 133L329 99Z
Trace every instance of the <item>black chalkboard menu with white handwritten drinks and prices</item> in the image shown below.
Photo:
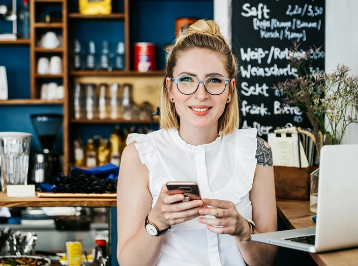
M310 128L297 106L286 106L274 84L297 76L288 62L296 41L298 51L322 46L312 67L324 70L325 0L233 0L233 52L239 57L237 88L240 128L257 128L266 138L287 123Z

